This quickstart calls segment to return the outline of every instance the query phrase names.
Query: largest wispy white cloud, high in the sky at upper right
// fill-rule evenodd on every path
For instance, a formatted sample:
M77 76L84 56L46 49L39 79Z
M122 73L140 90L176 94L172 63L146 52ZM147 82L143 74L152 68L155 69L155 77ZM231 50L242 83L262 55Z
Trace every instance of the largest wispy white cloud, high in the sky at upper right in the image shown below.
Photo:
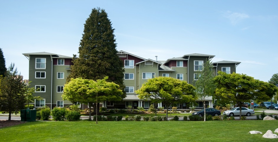
M232 25L236 25L238 22L240 22L243 19L249 18L249 15L245 13L237 13L237 12L231 12L227 11L223 14L225 18L228 18Z

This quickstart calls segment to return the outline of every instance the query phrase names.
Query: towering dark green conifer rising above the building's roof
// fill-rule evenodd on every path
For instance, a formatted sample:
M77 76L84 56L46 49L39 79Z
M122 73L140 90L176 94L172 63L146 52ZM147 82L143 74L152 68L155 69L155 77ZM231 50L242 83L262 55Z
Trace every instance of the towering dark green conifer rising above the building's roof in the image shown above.
M123 62L117 56L114 30L104 9L92 9L84 24L79 56L73 55L67 82L70 78L98 80L108 76L108 82L120 85L123 90L121 98L126 97Z

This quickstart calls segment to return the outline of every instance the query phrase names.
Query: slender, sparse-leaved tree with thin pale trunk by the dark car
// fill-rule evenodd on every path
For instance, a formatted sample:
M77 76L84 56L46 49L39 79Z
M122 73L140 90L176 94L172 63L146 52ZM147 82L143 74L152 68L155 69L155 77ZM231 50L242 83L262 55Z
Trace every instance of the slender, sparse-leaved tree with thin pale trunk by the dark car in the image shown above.
M213 75L212 68L213 66L210 60L206 61L205 64L203 64L202 70L197 71L198 80L193 81L194 86L196 87L196 96L200 100L202 100L204 109L205 109L205 98L208 96L212 96L216 89L216 85L213 83L214 75ZM204 117L205 114L206 112L204 112Z

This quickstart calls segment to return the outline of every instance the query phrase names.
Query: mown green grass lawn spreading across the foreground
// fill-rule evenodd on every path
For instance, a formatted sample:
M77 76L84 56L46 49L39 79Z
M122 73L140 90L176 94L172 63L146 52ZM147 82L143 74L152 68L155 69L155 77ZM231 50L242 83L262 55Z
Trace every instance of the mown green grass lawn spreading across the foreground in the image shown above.
M263 134L278 128L277 121L162 121L57 122L37 121L0 129L0 141L244 141L276 142Z

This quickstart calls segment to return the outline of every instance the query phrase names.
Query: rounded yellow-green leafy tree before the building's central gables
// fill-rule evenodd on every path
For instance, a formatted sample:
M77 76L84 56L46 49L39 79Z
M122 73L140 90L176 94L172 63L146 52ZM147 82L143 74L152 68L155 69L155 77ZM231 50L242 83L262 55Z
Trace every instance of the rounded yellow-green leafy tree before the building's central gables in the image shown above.
M186 81L181 81L171 77L155 77L148 79L142 87L135 91L139 94L139 99L151 100L152 102L163 102L166 106L166 117L168 118L168 108L176 103L193 102L195 87Z

